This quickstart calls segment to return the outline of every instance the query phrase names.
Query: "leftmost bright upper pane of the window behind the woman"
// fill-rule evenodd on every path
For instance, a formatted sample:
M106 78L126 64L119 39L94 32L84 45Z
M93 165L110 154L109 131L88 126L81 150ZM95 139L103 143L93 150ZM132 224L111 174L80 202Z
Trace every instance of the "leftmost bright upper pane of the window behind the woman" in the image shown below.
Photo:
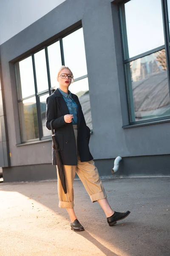
M23 99L35 94L32 57L15 64L17 71L18 98Z

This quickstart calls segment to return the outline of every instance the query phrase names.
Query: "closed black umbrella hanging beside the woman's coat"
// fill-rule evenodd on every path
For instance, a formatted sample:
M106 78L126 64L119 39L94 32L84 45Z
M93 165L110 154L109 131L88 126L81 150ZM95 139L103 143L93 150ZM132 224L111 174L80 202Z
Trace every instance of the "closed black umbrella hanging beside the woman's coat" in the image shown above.
M56 155L56 161L57 161L57 168L58 168L58 172L59 172L59 178L61 180L62 188L63 188L65 194L67 194L67 187L66 187L66 183L65 183L64 167L63 167L63 164L62 164L62 159L61 159L61 155L60 155L59 145L58 145L58 143L56 141L54 130L53 130L53 126L52 126L52 122L53 121L54 121L54 119L51 120L51 122L50 122L50 127L51 127L51 132L52 132L52 143L53 143L53 148L54 148L55 155ZM66 195L66 197L67 197L67 195ZM68 201L68 198L67 198L67 201Z

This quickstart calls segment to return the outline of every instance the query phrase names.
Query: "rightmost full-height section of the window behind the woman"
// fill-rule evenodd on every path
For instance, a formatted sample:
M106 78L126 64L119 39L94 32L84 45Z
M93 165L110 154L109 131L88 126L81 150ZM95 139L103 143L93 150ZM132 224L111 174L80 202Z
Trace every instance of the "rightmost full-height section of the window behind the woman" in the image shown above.
M62 41L65 65L70 67L74 75L74 83L70 85L69 90L79 97L86 124L92 129L88 75L82 28L66 36Z

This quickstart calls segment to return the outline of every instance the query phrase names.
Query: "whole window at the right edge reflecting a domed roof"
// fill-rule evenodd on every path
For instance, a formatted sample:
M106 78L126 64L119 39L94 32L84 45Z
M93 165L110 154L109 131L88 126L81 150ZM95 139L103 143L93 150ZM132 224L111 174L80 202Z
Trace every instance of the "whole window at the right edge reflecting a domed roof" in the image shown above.
M169 2L129 0L120 5L130 124L170 119L170 40L165 18Z

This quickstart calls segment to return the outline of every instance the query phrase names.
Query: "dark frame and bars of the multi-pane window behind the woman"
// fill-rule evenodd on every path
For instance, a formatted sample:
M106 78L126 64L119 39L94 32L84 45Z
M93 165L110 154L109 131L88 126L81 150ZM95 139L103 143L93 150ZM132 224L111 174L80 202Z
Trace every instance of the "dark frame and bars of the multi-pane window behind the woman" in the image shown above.
M48 60L48 46L50 46L51 44L54 44L57 41L59 41L61 62L62 62L61 64L65 66L64 49L63 49L63 44L62 44L62 38L65 38L67 35L70 35L71 33L74 33L75 31L77 31L78 29L81 29L81 28L82 28L82 25L79 25L76 28L71 29L70 31L68 31L66 33L63 33L63 35L61 34L58 37L56 36L55 40L53 39L51 41L48 41L48 44L41 45L41 47L39 47L36 50L32 50L28 55L24 56L24 58L18 58L17 61L14 62L15 79L16 79L16 87L17 87L17 103L18 103L18 112L19 112L19 117L20 117L20 140L21 140L21 144L38 143L40 141L46 141L46 140L51 139L51 135L43 136L41 106L40 106L40 96L43 96L47 93L49 93L49 95L51 95L54 92L54 87L51 87L50 68L49 68L49 60ZM48 89L46 89L44 91L41 91L41 92L37 92L37 79L36 79L34 54L41 51L42 49L45 49L45 60L46 60L47 77L48 77ZM20 82L18 83L18 73L17 73L16 64L18 64L20 61L28 58L29 56L31 56L31 58L32 58L35 94L31 95L31 96L27 96L25 98L19 98L18 90L19 89L21 90L21 88L19 88L19 87L21 87L21 84L19 84ZM84 76L78 77L78 78L74 79L74 81L76 82L76 81L79 81L79 80L82 80L82 79L85 79L85 78L88 78L88 74L85 74ZM22 140L22 125L21 125L21 116L20 116L19 103L23 102L25 99L29 99L33 96L36 98L39 138L32 139L32 140ZM20 144L18 144L18 145L20 145Z

